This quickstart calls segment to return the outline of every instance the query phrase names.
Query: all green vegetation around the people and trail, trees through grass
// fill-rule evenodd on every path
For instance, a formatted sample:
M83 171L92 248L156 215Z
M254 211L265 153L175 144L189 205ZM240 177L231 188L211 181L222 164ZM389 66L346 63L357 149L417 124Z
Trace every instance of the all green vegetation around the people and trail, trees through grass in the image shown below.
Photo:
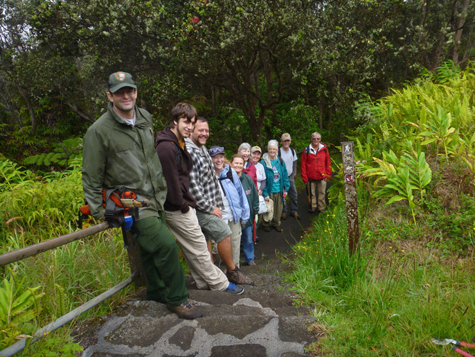
M441 351L431 337L473 336L473 1L0 3L2 253L77 229L82 137L109 74L128 71L156 130L187 101L229 152L283 132L296 150L316 130L334 151L341 132L355 141L361 254L337 178L289 257L296 303L316 306L309 351L420 356ZM111 230L2 268L0 348L127 274ZM25 355L73 356L70 334Z

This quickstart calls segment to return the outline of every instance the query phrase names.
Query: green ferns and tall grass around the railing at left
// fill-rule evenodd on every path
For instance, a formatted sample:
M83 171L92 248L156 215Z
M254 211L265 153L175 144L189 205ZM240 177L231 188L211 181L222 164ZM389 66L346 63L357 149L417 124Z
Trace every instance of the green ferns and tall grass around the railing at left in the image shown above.
M8 160L0 165L0 254L77 229L75 220L83 204L80 162L69 171L44 177L37 177ZM39 297L35 304L24 306L24 313L35 316L28 324L1 324L0 349L15 336L29 335L130 276L120 229L74 241L10 264L8 268L2 268L3 277L21 281L15 287L15 296L35 288ZM110 313L123 302L129 290L130 287L121 290L81 317ZM30 352L74 356L78 345L71 344L69 333L67 327L63 328L44 342L34 344Z

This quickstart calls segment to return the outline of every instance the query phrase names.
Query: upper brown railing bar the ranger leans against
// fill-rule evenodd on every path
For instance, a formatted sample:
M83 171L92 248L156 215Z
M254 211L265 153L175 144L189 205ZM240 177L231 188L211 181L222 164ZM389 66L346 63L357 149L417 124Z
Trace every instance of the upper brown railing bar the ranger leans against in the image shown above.
M78 232L72 232L66 234L65 236L59 236L48 241L30 245L29 247L24 247L13 252L8 252L0 255L0 266L7 265L10 263L15 263L15 261L20 261L21 259L28 258L28 256L33 256L35 254L46 252L47 250L60 247L66 243L71 243L77 241L80 238L91 236L98 232L105 231L109 229L110 225L107 222L100 223L99 225L93 225L92 227L87 227L81 229Z

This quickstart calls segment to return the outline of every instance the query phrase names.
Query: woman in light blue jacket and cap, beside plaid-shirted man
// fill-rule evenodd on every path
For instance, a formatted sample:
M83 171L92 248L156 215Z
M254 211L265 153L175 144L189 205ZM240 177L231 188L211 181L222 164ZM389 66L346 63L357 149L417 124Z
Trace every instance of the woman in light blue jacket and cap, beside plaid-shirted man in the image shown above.
M239 268L241 225L245 225L247 220L249 220L249 203L247 202L244 189L242 189L238 174L225 162L224 148L222 146L213 146L210 148L209 154L213 160L224 203L222 219L231 228L234 265Z

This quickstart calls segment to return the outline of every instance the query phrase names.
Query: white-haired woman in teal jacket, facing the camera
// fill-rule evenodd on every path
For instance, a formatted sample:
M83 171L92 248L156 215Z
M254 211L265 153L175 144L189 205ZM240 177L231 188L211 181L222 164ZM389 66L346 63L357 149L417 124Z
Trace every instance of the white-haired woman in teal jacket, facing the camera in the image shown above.
M266 184L262 190L262 196L265 200L271 198L274 201L274 217L270 222L264 221L262 223L266 232L270 232L271 227L274 227L277 232L282 232L280 228L280 215L282 214L285 195L287 195L290 188L285 162L277 156L278 148L279 143L277 140L270 140L267 143L267 153L262 155L262 161L260 162L265 168L266 175Z

